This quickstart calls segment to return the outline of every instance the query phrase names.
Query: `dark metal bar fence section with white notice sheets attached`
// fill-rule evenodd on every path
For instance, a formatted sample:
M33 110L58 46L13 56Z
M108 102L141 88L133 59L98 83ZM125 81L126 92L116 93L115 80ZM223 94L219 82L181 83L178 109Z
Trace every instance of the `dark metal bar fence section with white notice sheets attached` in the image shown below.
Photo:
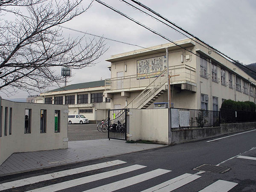
M171 128L218 127L219 116L219 111L171 108Z

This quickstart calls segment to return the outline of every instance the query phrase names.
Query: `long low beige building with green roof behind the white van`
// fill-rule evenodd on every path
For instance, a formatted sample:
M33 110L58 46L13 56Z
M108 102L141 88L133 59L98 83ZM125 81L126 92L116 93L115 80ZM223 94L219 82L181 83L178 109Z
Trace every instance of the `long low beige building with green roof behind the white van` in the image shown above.
M41 93L36 102L68 105L69 114L83 114L90 121L106 119L110 98L105 98L105 80L71 84Z

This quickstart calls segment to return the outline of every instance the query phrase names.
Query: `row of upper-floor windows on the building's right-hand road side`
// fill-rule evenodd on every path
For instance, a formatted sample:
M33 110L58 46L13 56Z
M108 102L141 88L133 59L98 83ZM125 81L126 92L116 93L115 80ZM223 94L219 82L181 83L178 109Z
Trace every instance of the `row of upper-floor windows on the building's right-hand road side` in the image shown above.
M208 73L207 73L207 61L206 58L201 57L200 58L200 70L201 70L201 76L204 78L208 79ZM229 85L230 88L236 88L237 91L243 92L245 94L249 94L250 96L253 96L253 86L250 86L250 90L248 90L249 88L249 84L247 81L243 81L241 80L241 78L239 78L239 76L236 76L236 83L234 86L234 82L233 82L233 76L234 74L232 74L231 72L228 72L228 82L226 81L226 71L224 69L221 68L221 84L224 86ZM215 64L214 62L212 62L212 81L218 83L219 82L219 78L218 78L218 67L217 64ZM242 82L242 84L241 84Z

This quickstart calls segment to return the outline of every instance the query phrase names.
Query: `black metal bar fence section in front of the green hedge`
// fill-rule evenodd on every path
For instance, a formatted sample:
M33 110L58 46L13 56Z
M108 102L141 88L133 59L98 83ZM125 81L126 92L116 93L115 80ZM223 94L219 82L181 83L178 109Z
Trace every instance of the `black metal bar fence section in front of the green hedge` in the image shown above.
M221 123L256 122L255 111L236 111L232 109L220 109Z

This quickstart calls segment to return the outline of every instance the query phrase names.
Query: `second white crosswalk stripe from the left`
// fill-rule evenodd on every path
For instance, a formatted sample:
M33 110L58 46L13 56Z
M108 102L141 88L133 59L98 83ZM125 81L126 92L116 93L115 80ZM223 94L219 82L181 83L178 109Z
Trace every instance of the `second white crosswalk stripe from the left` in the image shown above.
M29 192L54 192L54 191L58 191L58 190L62 190L62 189L67 189L69 187L78 186L78 185L82 185L85 183L90 183L90 182L93 182L96 180L101 180L101 179L105 179L108 177L121 175L123 173L135 171L138 169L142 169L144 167L146 167L146 166L141 166L141 165L128 166L128 167L124 167L124 168L120 168L120 169L115 169L115 170L109 171L109 172L103 172L103 173L99 173L99 174L95 174L95 175L90 175L87 177L81 177L78 179L68 180L68 181L65 181L62 183L56 183L56 184L41 187L38 189L33 189L33 190L30 190Z

